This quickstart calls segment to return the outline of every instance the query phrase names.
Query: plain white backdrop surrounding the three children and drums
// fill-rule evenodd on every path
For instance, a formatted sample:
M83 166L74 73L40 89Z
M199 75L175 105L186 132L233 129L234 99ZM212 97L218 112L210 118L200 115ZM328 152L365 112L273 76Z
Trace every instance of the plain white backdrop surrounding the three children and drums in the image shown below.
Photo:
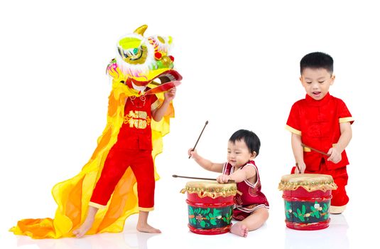
M379 11L375 1L9 1L0 4L0 248L357 248L376 243L379 223ZM81 240L31 240L8 232L21 218L53 217L54 184L77 174L106 123L111 85L105 68L117 39L148 24L146 36L173 36L183 75L176 117L156 159L161 235L124 233ZM351 198L323 231L285 227L281 176L294 164L288 112L303 98L299 60L323 51L335 59L330 92L355 118L347 148ZM172 174L215 177L188 159L224 161L237 129L261 139L256 159L270 218L248 238L188 231L187 182Z

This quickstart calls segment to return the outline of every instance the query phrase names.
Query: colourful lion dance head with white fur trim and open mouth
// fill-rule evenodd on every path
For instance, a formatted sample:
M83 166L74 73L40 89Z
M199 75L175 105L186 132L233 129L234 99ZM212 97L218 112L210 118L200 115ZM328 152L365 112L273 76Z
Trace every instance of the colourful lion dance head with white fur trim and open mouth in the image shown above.
M134 33L119 39L116 44L116 58L107 66L107 73L114 83L121 82L129 88L152 83L164 91L179 85L182 76L173 69L174 57L169 54L172 38L146 38L143 36L146 28L148 26L143 25ZM168 84L163 86L164 83Z

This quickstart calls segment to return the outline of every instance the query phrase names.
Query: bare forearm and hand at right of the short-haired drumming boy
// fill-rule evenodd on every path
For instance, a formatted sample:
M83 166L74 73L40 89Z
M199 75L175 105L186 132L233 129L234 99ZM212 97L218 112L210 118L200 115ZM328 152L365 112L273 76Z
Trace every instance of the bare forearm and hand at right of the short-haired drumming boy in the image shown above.
M349 122L340 123L339 140L337 144L335 144L335 147L331 147L329 149L329 152L327 152L327 154L330 155L330 157L327 158L327 161L332 161L335 164L340 162L340 160L342 160L342 152L344 151L344 149L346 149L351 138L352 138L351 124Z

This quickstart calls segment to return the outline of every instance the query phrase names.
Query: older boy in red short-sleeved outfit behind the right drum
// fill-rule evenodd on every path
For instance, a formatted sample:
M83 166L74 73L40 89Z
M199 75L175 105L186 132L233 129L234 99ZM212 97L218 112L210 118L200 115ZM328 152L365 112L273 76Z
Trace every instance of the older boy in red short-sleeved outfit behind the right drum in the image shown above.
M354 119L344 102L329 93L335 80L332 72L333 60L326 53L309 53L300 60L300 81L306 97L294 103L286 129L292 132L291 144L298 163L292 173L331 175L338 188L332 191L330 213L342 213L349 201L345 190L349 161L344 149L351 140Z

